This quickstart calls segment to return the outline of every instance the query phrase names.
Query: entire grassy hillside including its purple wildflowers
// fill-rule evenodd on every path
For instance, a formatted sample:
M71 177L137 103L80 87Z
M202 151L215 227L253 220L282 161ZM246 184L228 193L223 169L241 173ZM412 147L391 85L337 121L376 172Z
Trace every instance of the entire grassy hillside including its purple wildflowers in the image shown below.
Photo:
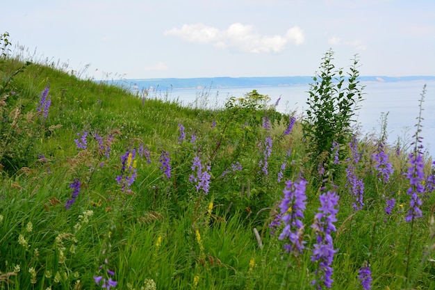
M14 58L0 74L1 289L435 287L417 149L351 131L316 154L255 91L204 110Z

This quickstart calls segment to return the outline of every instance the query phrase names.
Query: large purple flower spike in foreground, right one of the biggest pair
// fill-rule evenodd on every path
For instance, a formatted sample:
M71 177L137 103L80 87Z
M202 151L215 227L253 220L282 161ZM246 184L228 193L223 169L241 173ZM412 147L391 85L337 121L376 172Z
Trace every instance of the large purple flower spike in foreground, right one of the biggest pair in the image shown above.
M331 267L334 260L334 250L332 243L331 232L336 232L334 222L337 221L336 214L338 213L338 195L334 191L328 191L320 195L320 211L315 214L315 223L311 226L316 233L316 243L313 245L313 255L311 261L319 261L319 267L315 271L317 280L313 280L313 284L321 289L320 283L323 282L326 287L331 288L331 276L334 269Z

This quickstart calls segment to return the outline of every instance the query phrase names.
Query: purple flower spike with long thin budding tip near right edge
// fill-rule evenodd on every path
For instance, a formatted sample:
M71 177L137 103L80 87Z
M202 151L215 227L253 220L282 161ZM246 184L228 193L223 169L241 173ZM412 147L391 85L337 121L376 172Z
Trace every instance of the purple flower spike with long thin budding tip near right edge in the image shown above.
M407 222L422 217L422 211L420 209L422 202L418 197L419 194L425 192L425 187L422 185L422 181L425 179L425 174L423 172L424 164L421 152L416 150L409 154L409 164L407 178L409 179L410 186L407 194L411 196L411 201L409 202L410 209L408 215L405 218Z

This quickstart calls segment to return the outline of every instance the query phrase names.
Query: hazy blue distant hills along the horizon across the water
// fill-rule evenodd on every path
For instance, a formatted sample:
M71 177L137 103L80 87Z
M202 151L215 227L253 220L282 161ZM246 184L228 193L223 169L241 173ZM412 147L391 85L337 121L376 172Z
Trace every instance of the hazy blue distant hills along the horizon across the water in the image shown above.
M435 81L435 76L361 76L361 82ZM313 82L311 76L270 77L212 77L191 79L126 79L110 81L129 87L154 90L202 89L202 88L255 88L306 85Z

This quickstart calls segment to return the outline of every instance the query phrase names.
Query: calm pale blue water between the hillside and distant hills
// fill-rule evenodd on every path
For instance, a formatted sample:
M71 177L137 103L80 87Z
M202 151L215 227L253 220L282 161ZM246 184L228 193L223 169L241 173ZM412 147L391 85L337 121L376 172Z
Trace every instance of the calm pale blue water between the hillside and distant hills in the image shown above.
M423 102L422 132L423 145L432 156L435 156L435 81L403 81L397 83L363 83L366 88L358 122L363 134L379 135L381 115L388 113L388 143L409 144L415 134L416 118L419 113L419 100L422 88L426 83L426 94ZM233 97L243 97L246 92L257 90L262 95L269 95L270 104L281 97L277 110L283 113L297 112L302 115L308 105L309 86L256 87L256 88L224 88L202 90L177 90L167 92L150 92L151 97L177 99L184 105L202 108L217 108Z

